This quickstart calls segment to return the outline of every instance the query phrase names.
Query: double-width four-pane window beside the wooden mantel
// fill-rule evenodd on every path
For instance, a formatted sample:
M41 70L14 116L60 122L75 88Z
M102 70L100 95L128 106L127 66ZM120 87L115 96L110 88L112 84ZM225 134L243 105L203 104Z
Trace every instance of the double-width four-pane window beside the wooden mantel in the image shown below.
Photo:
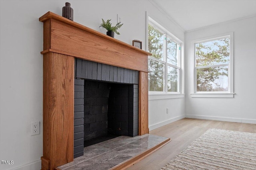
M149 91L157 94L180 93L180 43L155 21L150 21L148 52L152 56L148 57Z

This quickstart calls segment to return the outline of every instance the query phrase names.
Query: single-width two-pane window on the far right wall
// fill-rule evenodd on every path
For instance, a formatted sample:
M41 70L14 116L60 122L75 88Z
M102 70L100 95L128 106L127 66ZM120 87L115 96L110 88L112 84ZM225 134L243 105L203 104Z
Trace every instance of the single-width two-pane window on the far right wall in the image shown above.
M233 92L232 34L194 42L195 92Z

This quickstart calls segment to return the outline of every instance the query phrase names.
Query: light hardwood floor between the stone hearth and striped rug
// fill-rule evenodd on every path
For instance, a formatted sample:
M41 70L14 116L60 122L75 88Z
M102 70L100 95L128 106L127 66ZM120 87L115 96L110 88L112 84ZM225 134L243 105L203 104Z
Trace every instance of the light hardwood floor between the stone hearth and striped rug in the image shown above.
M127 170L159 170L210 128L256 133L256 124L184 118L150 131L172 141Z

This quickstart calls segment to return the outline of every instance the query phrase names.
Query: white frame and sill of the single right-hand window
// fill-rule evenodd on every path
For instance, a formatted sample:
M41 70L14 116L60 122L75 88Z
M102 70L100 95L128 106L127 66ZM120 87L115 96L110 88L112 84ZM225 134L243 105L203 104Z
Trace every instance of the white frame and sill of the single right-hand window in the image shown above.
M230 62L228 64L228 91L218 91L218 92L197 92L196 91L196 44L198 43L204 43L208 41L214 41L218 39L223 39L223 38L230 38ZM193 80L193 90L194 93L191 93L192 98L234 98L234 33L229 32L229 33L224 33L220 35L214 35L211 37L205 37L202 39L196 39L192 41L192 49L193 49L193 57L194 57L194 80ZM224 64L225 65L225 64ZM222 64L220 64L222 66Z

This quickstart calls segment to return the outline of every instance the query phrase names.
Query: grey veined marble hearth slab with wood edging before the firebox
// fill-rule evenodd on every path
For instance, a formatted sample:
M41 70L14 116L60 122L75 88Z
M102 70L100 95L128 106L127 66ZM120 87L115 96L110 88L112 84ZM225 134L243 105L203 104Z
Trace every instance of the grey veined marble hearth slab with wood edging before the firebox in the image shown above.
M136 137L120 136L85 147L83 156L58 168L60 170L109 170L125 162L129 164L129 160L136 160L140 155L146 156L147 152L152 152L158 145L161 147L169 141L167 137L150 134Z

